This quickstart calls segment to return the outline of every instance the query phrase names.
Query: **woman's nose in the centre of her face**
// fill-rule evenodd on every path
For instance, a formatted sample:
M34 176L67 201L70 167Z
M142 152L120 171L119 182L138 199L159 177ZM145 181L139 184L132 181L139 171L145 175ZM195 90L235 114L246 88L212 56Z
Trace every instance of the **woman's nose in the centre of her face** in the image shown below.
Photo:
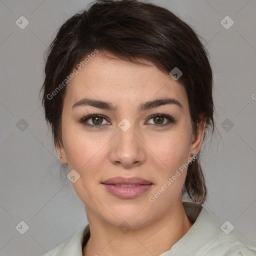
M135 129L135 125L123 131L117 127L117 134L113 138L109 160L124 168L135 167L145 161L145 145Z

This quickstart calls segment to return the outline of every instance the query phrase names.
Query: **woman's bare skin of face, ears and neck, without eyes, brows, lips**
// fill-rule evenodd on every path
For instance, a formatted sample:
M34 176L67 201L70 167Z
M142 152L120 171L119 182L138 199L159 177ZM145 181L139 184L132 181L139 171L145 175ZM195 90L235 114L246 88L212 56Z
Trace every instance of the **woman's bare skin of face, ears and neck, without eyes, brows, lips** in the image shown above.
M57 143L55 148L69 171L75 169L80 175L72 186L85 205L90 226L83 256L160 255L192 226L182 206L186 169L154 202L148 198L179 166L191 161L191 152L198 152L205 121L198 124L193 136L184 87L143 61L151 65L109 59L99 52L67 84L62 111L63 144ZM72 109L84 97L111 102L117 110L93 106ZM137 111L140 103L163 97L178 100L183 109L165 104ZM102 124L101 128L79 123L89 114L106 117L98 122L87 120L92 125ZM149 119L153 114L169 115L176 123L163 126L168 119ZM123 118L131 123L125 132L118 127ZM153 185L136 198L119 198L100 183L115 176L138 176ZM123 221L130 225L126 233L118 228Z

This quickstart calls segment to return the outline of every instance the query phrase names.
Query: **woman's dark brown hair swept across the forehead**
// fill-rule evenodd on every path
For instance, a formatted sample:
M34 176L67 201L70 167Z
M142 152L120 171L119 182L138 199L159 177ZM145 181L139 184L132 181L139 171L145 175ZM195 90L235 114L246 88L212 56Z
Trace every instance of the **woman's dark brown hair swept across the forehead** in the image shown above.
M213 133L212 70L208 51L199 37L171 11L137 0L97 0L87 10L67 19L45 51L45 79L40 89L54 144L62 143L61 113L66 77L95 49L106 50L133 63L139 63L139 59L149 60L166 74L177 67L182 72L178 82L188 97L193 134L201 120L200 113L207 118L205 129L211 125ZM188 165L183 193L185 191L195 202L203 203L206 199L199 157Z

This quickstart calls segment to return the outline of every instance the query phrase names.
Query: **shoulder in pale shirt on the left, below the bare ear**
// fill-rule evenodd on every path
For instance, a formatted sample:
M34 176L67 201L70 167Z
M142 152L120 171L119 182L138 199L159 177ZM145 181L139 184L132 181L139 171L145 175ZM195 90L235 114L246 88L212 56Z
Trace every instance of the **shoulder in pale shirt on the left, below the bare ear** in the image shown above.
M88 224L78 231L76 231L69 239L57 245L55 248L46 252L42 256L82 256L82 240L86 231L88 231Z

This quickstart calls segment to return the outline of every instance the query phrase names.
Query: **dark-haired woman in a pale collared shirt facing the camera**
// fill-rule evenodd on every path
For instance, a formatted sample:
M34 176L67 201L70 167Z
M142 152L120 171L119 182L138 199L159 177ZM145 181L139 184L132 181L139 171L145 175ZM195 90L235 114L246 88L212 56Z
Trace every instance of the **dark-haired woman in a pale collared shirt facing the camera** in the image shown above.
M154 4L99 0L47 53L45 118L89 224L45 256L256 255L201 205L213 84L190 26Z

